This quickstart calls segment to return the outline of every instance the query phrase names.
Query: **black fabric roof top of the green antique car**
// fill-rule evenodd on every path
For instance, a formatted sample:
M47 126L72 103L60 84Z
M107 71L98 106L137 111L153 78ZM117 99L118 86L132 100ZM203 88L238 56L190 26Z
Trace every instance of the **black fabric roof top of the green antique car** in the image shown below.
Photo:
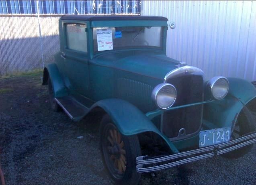
M64 15L62 20L168 20L160 16L135 15Z

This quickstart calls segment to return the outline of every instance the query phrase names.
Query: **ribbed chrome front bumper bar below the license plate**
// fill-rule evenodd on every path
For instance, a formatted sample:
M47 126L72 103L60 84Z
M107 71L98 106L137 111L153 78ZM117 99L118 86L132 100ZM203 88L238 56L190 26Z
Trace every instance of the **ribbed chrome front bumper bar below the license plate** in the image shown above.
M229 142L225 142L222 144L208 146L205 148L199 148L196 150L190 150L187 152L181 152L174 155L168 155L168 156L158 157L153 159L147 159L147 156L140 156L136 158L136 163L137 163L136 169L137 169L137 172L139 173L158 171L161 169L182 165L182 164L197 161L200 159L221 155L223 153L236 150L238 148L252 144L254 142L256 142L256 132L252 132L250 133L250 135L243 136L238 139L231 140ZM194 155L194 156L188 157L186 159L181 159L178 161L176 160L178 158L187 157L191 155L192 156ZM157 165L156 163L161 163L161 164Z

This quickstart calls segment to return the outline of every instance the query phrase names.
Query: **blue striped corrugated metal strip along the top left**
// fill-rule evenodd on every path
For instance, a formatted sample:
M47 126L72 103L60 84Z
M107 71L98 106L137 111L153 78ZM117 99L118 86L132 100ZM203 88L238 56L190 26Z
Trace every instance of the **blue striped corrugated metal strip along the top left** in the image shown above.
M39 14L140 14L140 0L39 0ZM37 14L37 1L0 0L0 14Z

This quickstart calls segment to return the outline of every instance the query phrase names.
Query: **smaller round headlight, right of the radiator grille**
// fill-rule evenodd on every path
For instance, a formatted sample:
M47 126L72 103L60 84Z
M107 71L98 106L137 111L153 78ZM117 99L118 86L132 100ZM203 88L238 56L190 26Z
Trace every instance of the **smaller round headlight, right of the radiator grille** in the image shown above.
M208 84L213 98L216 100L225 98L229 89L229 82L225 77L213 77Z

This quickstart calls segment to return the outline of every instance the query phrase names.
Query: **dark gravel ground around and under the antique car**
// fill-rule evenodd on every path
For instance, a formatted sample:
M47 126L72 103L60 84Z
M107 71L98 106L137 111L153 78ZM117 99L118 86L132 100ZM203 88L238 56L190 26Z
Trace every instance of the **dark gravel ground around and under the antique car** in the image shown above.
M76 123L51 111L41 75L0 80L0 163L7 184L110 184L98 138L90 118ZM254 145L240 159L214 157L143 174L140 184L255 184L255 153Z

